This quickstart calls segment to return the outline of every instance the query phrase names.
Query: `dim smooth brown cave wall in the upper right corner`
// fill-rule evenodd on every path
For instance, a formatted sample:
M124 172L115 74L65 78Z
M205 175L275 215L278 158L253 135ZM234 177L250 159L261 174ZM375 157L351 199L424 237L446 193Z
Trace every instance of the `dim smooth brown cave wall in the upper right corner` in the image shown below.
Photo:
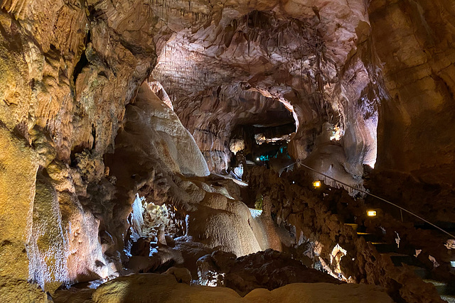
M454 183L455 6L373 1L375 50L388 96L378 127L378 167Z

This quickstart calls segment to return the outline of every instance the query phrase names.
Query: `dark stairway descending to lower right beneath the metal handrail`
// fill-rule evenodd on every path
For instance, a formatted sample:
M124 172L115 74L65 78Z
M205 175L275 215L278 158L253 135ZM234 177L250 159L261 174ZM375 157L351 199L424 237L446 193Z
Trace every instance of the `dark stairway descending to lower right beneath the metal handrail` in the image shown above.
M450 290L446 282L429 279L429 271L424 268L424 265L413 255L411 251L409 253L399 253L397 251L396 243L385 243L377 234L365 232L365 226L349 223L346 223L345 225L352 227L356 231L358 237L362 237L365 241L373 244L376 250L378 250L378 253L389 256L390 260L392 260L392 263L396 267L409 265L414 270L416 275L422 277L424 282L434 285L438 294L441 296L441 299L446 302L455 303L454 290Z

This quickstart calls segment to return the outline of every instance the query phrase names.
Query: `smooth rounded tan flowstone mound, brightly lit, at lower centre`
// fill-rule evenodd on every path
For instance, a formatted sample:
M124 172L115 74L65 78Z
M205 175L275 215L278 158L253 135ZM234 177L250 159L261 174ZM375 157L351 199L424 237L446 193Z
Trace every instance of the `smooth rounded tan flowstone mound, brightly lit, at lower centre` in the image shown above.
M190 183L191 184L191 183ZM256 253L272 248L282 251L294 243L294 237L282 226L277 226L267 216L257 216L245 203L209 191L204 183L194 182L186 187L186 194L193 199L181 197L186 218L186 236L191 241L203 243L237 256ZM181 189L180 189L181 190ZM198 200L194 200L198 197Z

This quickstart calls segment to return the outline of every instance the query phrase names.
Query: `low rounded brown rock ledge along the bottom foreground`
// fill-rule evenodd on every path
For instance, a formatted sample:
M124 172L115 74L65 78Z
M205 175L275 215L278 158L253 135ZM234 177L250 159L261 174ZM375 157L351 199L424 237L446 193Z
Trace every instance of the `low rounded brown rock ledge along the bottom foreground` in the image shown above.
M109 281L97 290L59 292L54 302L372 302L392 303L379 287L372 285L333 285L294 283L276 290L257 289L245 297L225 287L189 286L173 275L130 275Z

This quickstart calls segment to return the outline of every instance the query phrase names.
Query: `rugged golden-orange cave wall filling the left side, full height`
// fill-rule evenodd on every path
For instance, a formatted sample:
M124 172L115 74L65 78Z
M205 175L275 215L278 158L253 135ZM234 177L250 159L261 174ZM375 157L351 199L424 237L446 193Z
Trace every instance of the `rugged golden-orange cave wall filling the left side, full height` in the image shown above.
M113 150L125 104L156 60L147 7L1 3L4 301L45 300L28 278L52 291L61 282L115 275L97 212L109 194L97 193L97 184L107 182L102 157Z

